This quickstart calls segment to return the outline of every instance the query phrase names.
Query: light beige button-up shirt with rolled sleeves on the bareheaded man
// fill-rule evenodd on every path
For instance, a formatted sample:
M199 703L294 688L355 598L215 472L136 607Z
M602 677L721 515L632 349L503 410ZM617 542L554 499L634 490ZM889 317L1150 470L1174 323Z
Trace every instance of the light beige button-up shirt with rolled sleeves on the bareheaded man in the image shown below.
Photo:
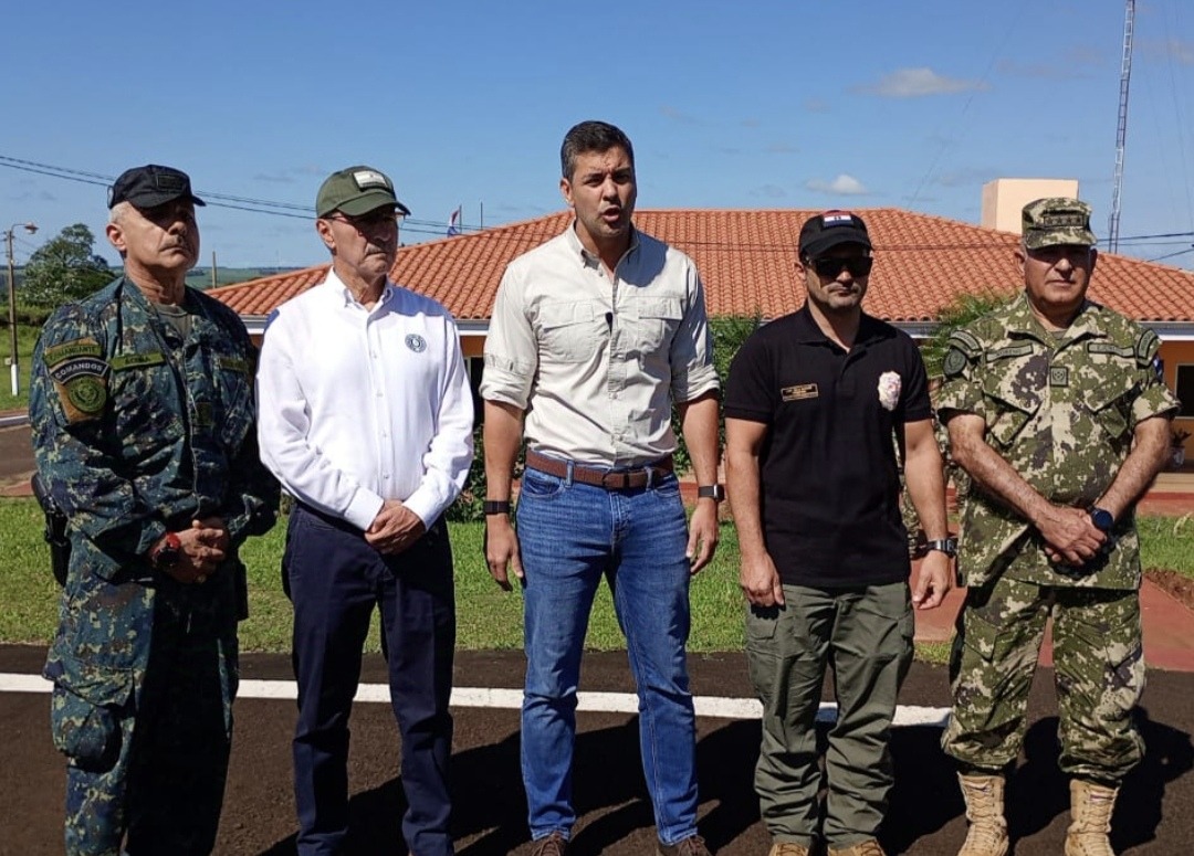
M634 230L610 278L573 224L506 267L481 395L527 411L528 448L642 466L676 448L672 402L715 389L704 289L683 253Z

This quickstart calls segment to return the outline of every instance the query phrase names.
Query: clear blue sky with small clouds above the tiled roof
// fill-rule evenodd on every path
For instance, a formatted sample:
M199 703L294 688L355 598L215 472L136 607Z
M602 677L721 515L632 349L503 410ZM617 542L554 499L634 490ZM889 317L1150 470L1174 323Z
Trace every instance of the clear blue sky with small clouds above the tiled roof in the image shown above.
M330 172L368 163L413 211L404 241L424 241L457 205L466 227L482 206L485 225L560 210L561 137L601 118L634 141L640 207L896 206L977 223L985 181L1073 178L1104 236L1124 12L1120 0L13 2L0 229L42 228L18 232L20 262L84 222L115 263L93 175L167 163L201 194L309 209ZM1121 252L1194 244L1188 0L1137 5L1121 211ZM209 205L202 263L213 250L222 266L324 261L309 218L290 213ZM1187 234L1127 241L1165 232ZM1167 261L1194 267L1194 252Z

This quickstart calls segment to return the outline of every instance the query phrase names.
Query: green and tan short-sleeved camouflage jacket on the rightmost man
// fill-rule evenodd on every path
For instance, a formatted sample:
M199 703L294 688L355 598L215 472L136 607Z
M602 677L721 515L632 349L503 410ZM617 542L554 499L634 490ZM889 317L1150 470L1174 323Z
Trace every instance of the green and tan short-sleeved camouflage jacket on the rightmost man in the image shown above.
M981 416L986 441L1034 490L1090 508L1132 448L1138 422L1177 408L1159 374L1157 334L1087 302L1061 334L1048 333L1024 294L949 339L937 409ZM1134 589L1139 540L1130 510L1108 554L1082 569L1048 562L1044 540L977 484L962 498L959 567L967 585L999 573L1044 585Z

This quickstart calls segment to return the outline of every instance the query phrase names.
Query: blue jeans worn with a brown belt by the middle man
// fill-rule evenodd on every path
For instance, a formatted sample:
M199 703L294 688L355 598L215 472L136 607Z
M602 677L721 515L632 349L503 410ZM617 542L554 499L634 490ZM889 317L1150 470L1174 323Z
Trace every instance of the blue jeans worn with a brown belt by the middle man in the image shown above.
M571 835L580 655L604 575L639 693L639 743L665 844L696 833L696 721L684 645L688 528L679 483L608 491L527 470L518 498L527 688L522 771L533 838Z

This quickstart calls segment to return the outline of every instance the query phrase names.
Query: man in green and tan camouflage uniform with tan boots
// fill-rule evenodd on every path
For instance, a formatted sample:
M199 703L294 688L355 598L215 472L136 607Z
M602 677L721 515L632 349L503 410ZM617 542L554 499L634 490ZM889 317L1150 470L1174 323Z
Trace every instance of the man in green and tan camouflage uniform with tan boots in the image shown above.
M949 340L938 408L973 479L959 566L970 587L942 745L960 767L965 856L1008 851L1004 771L1020 752L1046 619L1070 776L1066 856L1112 854L1119 783L1144 751L1134 505L1165 458L1177 402L1155 333L1087 299L1090 206L1024 206L1024 293Z

